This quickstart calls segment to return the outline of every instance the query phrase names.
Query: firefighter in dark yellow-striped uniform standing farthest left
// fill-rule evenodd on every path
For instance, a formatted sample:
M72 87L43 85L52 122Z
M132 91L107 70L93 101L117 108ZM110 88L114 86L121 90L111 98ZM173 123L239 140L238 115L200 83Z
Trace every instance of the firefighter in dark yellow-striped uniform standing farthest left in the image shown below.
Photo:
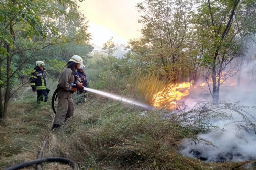
M44 61L36 61L36 67L31 72L29 79L33 92L37 92L37 103L47 102L49 89L46 88Z

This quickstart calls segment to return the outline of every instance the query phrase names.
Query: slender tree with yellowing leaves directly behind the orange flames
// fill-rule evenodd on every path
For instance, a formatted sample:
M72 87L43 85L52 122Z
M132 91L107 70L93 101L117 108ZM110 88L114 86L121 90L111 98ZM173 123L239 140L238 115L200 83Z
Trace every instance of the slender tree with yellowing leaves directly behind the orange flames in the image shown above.
M191 7L192 2L186 0L144 0L137 4L142 13L139 23L144 25L141 41L150 50L147 63L151 69L163 70L174 83L184 66L181 58L187 57Z

